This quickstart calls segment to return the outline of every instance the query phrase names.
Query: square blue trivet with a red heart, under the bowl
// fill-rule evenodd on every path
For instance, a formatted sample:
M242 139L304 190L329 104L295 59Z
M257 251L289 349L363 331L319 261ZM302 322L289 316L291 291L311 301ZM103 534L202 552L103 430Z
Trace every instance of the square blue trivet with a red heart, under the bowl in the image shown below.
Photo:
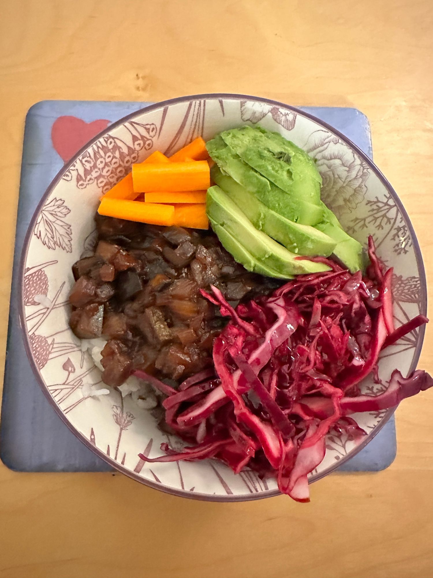
M18 321L18 267L25 232L36 205L64 160L102 130L126 114L150 103L43 101L33 105L25 120L23 164L10 299L5 383L0 421L0 457L20 472L107 472L111 467L96 457L62 423L44 397L27 360ZM372 156L367 118L352 108L302 110L335 127ZM68 118L59 118L68 117ZM55 128L53 131L53 125ZM83 122L84 121L84 122ZM98 122L95 122L98 121ZM105 121L105 122L104 122ZM68 143L58 140L67 124ZM85 123L94 123L89 127ZM93 134L91 134L93 129ZM53 147L52 135L57 152ZM57 135L57 136L56 136ZM83 137L84 141L83 141ZM81 139L81 140L80 140ZM62 158L63 157L63 158ZM394 417L359 454L339 470L372 472L387 468L396 452Z

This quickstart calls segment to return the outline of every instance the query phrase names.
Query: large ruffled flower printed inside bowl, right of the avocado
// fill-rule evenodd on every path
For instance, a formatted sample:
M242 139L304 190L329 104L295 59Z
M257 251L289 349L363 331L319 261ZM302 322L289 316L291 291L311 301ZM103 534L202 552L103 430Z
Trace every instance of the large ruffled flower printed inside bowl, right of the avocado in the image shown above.
M316 161L322 176L323 202L340 218L364 200L369 169L337 136L320 129L308 137L305 151Z

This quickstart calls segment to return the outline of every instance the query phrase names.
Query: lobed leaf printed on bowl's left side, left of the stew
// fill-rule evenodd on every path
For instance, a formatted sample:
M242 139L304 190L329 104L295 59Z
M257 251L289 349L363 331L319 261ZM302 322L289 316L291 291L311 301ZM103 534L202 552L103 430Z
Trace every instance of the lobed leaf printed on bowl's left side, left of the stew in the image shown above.
M72 251L72 229L64 217L70 213L64 199L53 198L46 202L39 213L33 234L48 247L55 250L56 247L66 253Z

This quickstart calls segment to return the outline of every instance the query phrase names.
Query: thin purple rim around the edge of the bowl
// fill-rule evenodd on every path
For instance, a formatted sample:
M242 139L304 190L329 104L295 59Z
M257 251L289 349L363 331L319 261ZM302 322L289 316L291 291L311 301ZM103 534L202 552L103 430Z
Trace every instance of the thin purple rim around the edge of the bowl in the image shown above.
M356 144L354 144L345 135L343 135L341 132L337 131L337 129L331 127L330 124L327 124L324 121L320 120L319 118L313 116L313 114L304 112L303 110L298 109L294 106L286 105L285 103L274 101L274 100L268 99L268 98L254 97L254 96L245 95L245 94L210 93L210 94L193 94L193 95L186 95L184 97L171 98L171 99L167 99L165 101L155 102L152 105L144 106L142 109L139 109L136 112L126 114L126 116L120 118L120 120L116 121L115 123L110 124L109 127L105 128L103 131L99 132L98 135L96 135L94 138L89 140L89 142L86 143L83 147L81 147L81 149L72 157L72 159L70 159L68 162L66 162L64 164L64 166L62 166L60 171L57 173L57 175L54 177L54 179L51 181L50 185L47 187L46 191L42 195L42 198L40 199L40 202L38 203L38 206L36 207L35 212L33 213L33 216L30 220L27 232L26 232L25 237L24 237L24 244L23 244L23 250L21 253L20 268L19 268L19 275L18 275L18 283L19 283L19 286L21 287L21 291L20 291L20 294L18 297L18 299L19 299L18 316L19 316L20 327L21 327L21 331L22 331L22 335L23 335L24 349L25 349L25 352L27 353L27 357L28 357L28 360L30 362L33 373L35 374L36 381L38 381L38 384L39 384L40 388L42 389L45 397L48 399L48 402L53 407L54 411L58 414L58 416L61 418L61 420L64 422L64 424L70 429L70 431L72 431L72 433L76 436L76 438L79 439L80 442L84 443L85 446L87 446L91 451L93 451L96 455L98 455L102 460L107 462L107 464L113 466L113 468L117 469L119 472L124 473L126 476L132 478L133 480L139 481L140 483L144 484L145 486L149 486L151 488L154 488L155 490L160 490L160 491L166 492L167 494L176 495L176 496L184 497L184 498L201 500L201 501L210 501L210 502L246 502L246 501L251 501L251 500L256 500L256 499L275 497L275 496L280 495L281 492L278 489L276 489L276 490L267 490L264 492L259 492L257 494L241 494L241 495L233 495L232 497L230 497L230 495L216 496L214 494L203 494L203 493L200 493L200 494L197 493L196 494L195 492L189 492L186 490L177 490L176 488L172 488L170 486L165 486L165 484L156 483L152 480L145 479L144 477L140 476L136 472L133 472L133 471L125 468L124 466L119 464L117 461L115 461L113 458L111 458L110 456L105 454L102 450L99 450L99 448L95 447L90 442L90 440L88 440L85 437L85 435L83 433L79 432L72 425L72 423L70 423L68 418L65 416L65 414L62 412L62 410L59 408L57 403L55 403L54 398L51 396L50 392L48 391L48 388L47 388L47 386L43 380L43 377L39 372L38 366L36 365L35 360L33 359L32 351L31 351L31 348L29 346L28 332L27 332L27 328L25 325L24 266L25 266L25 262L27 261L27 254L28 254L30 239L32 236L33 229L35 228L36 218L38 217L38 214L39 214L40 210L42 209L47 197L51 194L51 192L53 192L54 188L57 187L59 181L62 178L62 175L64 175L64 173L66 171L68 171L70 166L72 166L73 163L76 162L76 160L83 153L85 153L85 151L87 149L89 149L89 147L92 146L92 144L97 142L107 132L120 127L122 124L125 124L131 118L135 118L136 116L140 116L141 114L144 114L145 112L152 112L154 110L158 110L158 109L163 108L165 106L170 106L170 105L178 104L181 102L189 102L192 100L215 100L215 99L232 99L232 100L239 100L239 101L257 101L257 102L263 102L267 105L278 106L279 108L290 110L291 112L294 112L296 114L299 114L300 116L308 118L309 120L318 124L320 127L323 127L327 131L338 136L344 143L348 144L348 146L351 149L353 149L359 155L359 157L361 157L364 160L364 162L369 166L370 169L372 169L372 171L375 173L375 175L378 177L378 179L382 182L383 186L385 186L387 191L390 192L391 197L393 197L395 204L397 205L398 209L400 210L400 212L402 214L402 217L405 221L406 227L408 227L408 229L409 229L409 232L410 232L410 235L412 238L413 248L415 251L417 268L418 268L419 274L420 274L420 286L421 286L420 313L424 314L424 315L427 314L427 280L425 278L424 261L423 261L422 255L421 255L421 249L420 249L419 242L418 242L418 239L417 239L416 234L415 234L415 230L413 229L413 226L412 226L412 223L410 222L410 218L408 216L408 213L406 212L404 206L402 205L402 202L400 201L400 198L398 197L397 192L395 192L395 190L391 186L390 182L386 179L385 175L383 175L383 173L380 171L380 169L375 165L375 163L372 161L372 159L369 158L364 153L364 151L362 151ZM425 325L422 325L420 327L419 338L418 338L417 345L415 347L413 360L412 360L412 364L410 365L409 373L414 371L416 369L417 364L418 364L419 357L421 354L421 349L423 346L423 341L424 341L424 333L425 333ZM368 433L365 440L362 443L360 443L359 446L354 447L353 450L351 450L348 454L346 454L344 457L342 457L341 460L336 461L335 464L329 466L329 468L326 468L325 470L323 470L323 472L317 473L316 475L312 476L311 479L309 480L309 483L313 483L314 481L318 481L322 477L327 476L329 473L334 472L334 470L338 469L342 464L345 464L346 461L350 460L350 458L353 458L354 455L359 453L359 451L361 451L365 446L367 446L367 444L369 442L371 442L371 440L379 433L379 431L387 423L387 421L393 415L393 413L395 412L396 409L397 409L397 407L393 407L393 408L387 410L387 412L383 416L382 420L380 420L380 422L374 427L374 429L372 429L372 431Z

